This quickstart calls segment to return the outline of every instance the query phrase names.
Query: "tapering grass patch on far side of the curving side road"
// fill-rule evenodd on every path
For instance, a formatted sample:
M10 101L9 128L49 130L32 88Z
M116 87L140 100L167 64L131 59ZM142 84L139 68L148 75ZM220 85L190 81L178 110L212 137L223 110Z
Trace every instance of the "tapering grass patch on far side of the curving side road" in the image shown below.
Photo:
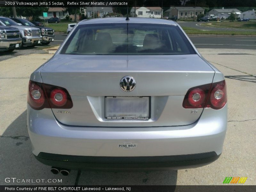
M212 22L211 25L229 28L256 29L256 22L253 21Z

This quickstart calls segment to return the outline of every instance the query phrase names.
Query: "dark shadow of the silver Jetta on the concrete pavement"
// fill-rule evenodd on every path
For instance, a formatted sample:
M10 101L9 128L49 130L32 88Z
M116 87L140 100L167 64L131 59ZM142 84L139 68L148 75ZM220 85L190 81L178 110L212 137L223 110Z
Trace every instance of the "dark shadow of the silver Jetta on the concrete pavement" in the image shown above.
M36 160L27 130L27 111L0 136L0 185L176 185L177 170L158 172L87 172L71 170L54 175L50 166ZM6 182L5 178L30 179ZM40 182L31 182L40 179ZM44 179L44 181L42 181ZM48 182L50 179L52 182ZM62 182L53 182L61 179ZM8 181L8 180L7 180ZM39 180L38 180L39 181Z

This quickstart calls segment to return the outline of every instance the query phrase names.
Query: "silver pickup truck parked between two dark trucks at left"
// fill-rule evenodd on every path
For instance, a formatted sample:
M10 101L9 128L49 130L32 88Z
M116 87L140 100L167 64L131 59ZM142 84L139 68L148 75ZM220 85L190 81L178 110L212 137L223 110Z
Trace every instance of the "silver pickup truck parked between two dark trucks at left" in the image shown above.
M15 21L6 17L0 17L0 25L19 29L20 36L22 38L22 43L20 46L36 46L42 42L42 36L40 29L38 28L31 26L21 26Z

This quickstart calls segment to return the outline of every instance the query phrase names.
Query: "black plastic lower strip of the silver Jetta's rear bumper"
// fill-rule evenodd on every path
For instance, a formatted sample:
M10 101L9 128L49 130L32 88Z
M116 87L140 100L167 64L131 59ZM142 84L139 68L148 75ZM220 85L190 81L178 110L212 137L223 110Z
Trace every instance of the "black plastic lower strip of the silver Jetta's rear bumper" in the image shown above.
M220 155L215 152L147 157L95 157L39 153L35 156L43 164L73 170L142 171L196 168L210 164Z

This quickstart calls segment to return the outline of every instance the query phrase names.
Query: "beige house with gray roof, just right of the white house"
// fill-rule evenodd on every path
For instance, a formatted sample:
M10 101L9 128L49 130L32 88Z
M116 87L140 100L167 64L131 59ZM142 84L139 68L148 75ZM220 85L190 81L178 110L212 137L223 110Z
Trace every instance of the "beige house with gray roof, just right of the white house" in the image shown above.
M177 16L178 19L194 18L198 14L204 14L202 7L170 7L164 12L165 16Z

